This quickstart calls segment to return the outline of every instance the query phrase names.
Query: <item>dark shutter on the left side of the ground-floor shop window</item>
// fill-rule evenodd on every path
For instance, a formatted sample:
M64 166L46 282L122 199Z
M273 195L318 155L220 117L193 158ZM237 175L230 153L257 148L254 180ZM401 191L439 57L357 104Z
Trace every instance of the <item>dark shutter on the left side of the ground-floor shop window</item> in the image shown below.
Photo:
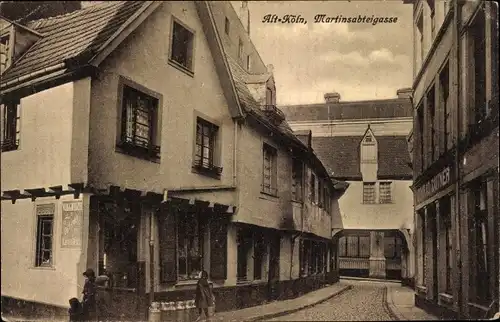
M160 281L177 281L177 221L175 213L164 211L159 217L160 224Z

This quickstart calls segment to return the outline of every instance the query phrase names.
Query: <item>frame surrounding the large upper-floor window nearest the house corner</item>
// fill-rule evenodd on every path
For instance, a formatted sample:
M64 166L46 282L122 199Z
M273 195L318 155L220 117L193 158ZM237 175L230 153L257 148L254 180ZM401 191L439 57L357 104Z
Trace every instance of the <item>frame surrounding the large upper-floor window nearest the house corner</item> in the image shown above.
M149 146L146 148L141 145L135 145L124 140L126 133L126 89L138 92L142 96L156 101L156 106L153 108L152 120L150 125ZM130 79L120 76L118 81L118 99L117 99L117 131L115 151L124 153L139 159L144 159L151 162L159 163L161 160L161 123L162 123L162 106L163 96L154 92Z

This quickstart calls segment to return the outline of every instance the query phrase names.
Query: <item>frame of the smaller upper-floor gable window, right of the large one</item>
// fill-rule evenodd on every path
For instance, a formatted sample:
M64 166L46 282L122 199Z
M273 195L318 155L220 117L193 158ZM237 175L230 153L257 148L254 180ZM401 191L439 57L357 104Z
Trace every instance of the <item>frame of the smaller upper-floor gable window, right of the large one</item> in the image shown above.
M197 148L198 148L198 129L199 126L206 126L210 131L209 139L209 164L207 166L203 165L203 141L201 147L201 160L198 160ZM195 173L203 174L214 179L220 179L222 174L221 166L221 124L198 111L194 112L194 140L193 140L193 157L192 157L192 170ZM203 138L202 138L203 140Z

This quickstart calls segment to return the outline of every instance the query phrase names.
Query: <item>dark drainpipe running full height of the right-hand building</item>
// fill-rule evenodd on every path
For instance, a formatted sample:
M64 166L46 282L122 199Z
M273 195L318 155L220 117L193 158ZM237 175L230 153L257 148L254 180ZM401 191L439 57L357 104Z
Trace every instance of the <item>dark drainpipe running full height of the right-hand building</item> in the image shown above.
M455 94L456 94L456 145L455 145L455 218L456 218L456 231L457 236L461 234L461 211L460 211L460 136L461 136L461 118L460 118L460 0L454 0L453 6L453 30L455 31L455 59L456 59L456 80L455 80ZM457 267L458 267L458 319L462 317L462 255L460 241L457 243Z

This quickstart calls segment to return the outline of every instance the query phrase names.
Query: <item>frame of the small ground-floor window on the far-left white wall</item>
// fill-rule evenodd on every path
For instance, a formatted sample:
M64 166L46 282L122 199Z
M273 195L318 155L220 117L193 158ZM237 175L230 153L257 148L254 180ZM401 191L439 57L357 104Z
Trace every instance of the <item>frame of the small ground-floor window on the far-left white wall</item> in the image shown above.
M34 269L55 269L55 232L56 232L56 205L55 203L37 203L34 206L34 228L33 228L33 268ZM39 239L40 239L40 220L51 220L51 249L50 249L50 262L48 264L39 262Z

